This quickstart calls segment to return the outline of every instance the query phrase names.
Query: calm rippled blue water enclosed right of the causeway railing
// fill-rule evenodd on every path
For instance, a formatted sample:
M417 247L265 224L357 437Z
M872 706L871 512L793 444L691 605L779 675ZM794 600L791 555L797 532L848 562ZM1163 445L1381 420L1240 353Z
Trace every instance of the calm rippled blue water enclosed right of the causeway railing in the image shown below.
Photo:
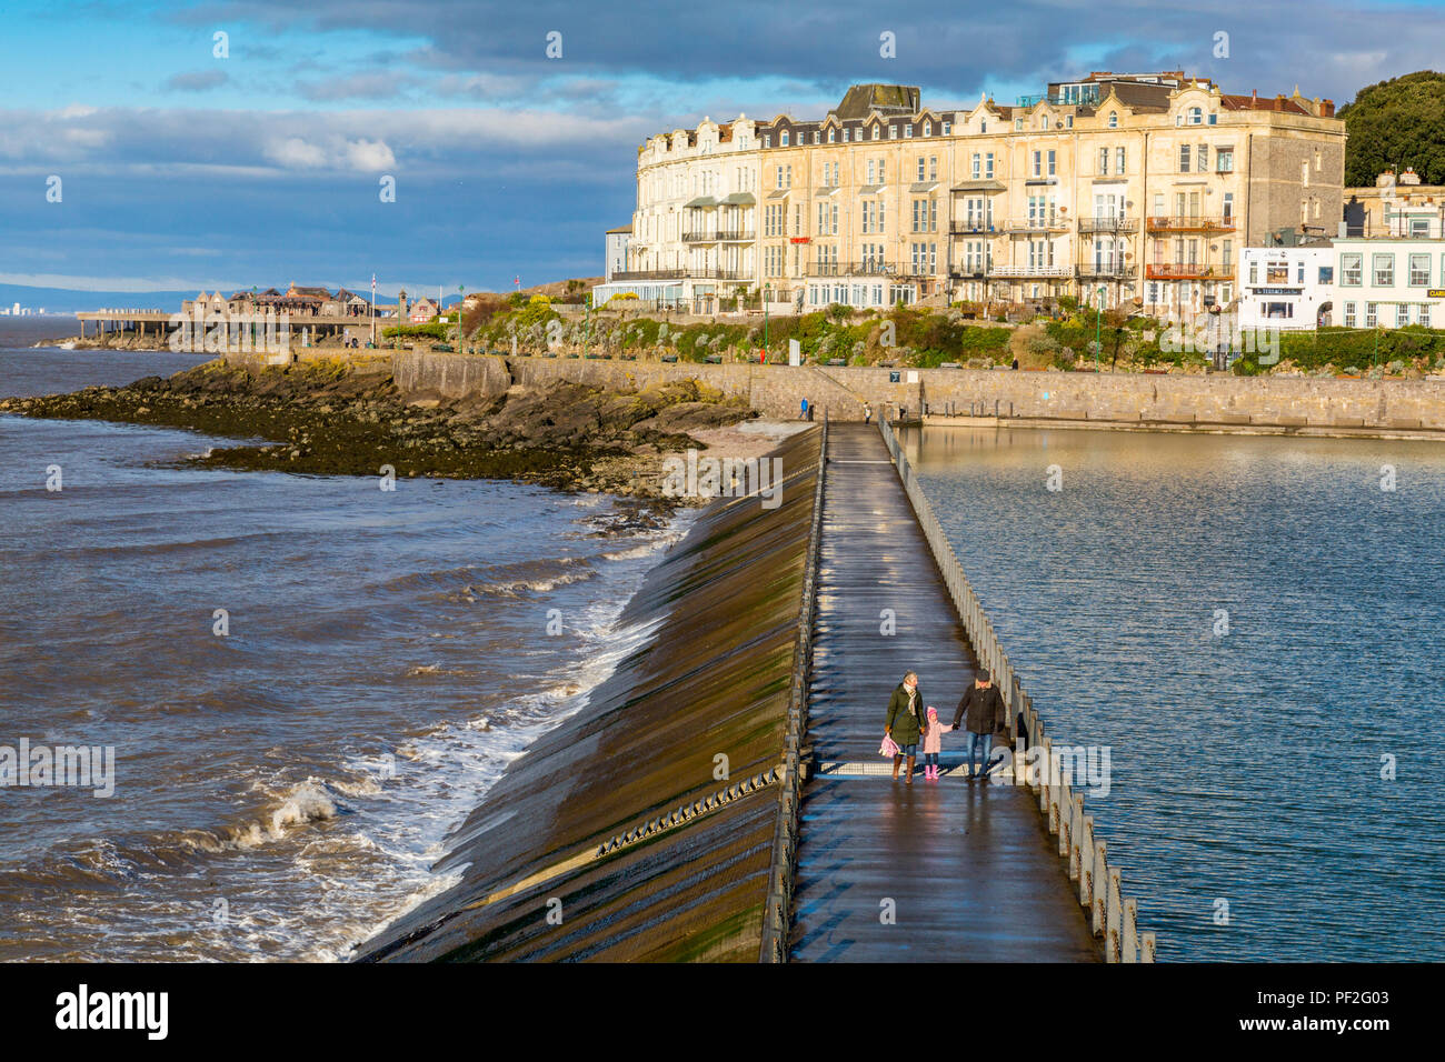
M1113 748L1087 803L1162 958L1445 959L1445 448L907 445L1055 743Z

